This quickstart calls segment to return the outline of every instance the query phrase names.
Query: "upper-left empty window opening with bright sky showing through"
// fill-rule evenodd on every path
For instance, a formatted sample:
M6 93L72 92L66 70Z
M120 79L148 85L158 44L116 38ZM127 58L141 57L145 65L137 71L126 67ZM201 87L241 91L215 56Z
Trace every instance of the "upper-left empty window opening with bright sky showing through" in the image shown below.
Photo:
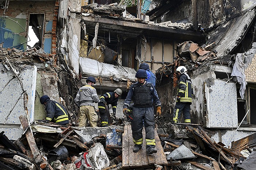
M27 47L42 48L42 40L44 33L44 14L29 15L29 37Z

